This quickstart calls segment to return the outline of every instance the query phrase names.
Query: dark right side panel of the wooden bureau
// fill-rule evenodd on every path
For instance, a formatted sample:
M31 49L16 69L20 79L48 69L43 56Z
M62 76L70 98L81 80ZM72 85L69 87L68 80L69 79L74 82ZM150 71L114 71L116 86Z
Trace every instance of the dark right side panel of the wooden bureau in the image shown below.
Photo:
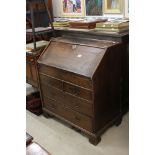
M108 48L93 77L94 132L120 115L121 45Z

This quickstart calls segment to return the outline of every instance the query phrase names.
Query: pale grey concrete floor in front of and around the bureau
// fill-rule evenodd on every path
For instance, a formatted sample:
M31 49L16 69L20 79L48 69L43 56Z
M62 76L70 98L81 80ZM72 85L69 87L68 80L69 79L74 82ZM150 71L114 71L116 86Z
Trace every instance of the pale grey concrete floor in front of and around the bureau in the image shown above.
M56 118L45 118L26 112L27 132L52 155L128 155L129 115L119 127L109 128L97 146L83 134L69 128Z

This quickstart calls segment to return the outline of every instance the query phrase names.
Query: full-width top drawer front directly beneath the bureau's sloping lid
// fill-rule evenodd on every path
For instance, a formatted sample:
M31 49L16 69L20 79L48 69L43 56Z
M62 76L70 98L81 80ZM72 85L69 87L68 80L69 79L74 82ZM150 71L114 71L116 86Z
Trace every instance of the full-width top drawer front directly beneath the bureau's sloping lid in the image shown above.
M73 83L75 85L79 85L81 87L87 88L87 89L92 89L92 81L91 79L80 76L65 70L61 70L58 68L54 67L49 67L45 65L39 65L39 72L43 73L45 75L52 76L54 78L63 80L63 81L68 81L70 83Z

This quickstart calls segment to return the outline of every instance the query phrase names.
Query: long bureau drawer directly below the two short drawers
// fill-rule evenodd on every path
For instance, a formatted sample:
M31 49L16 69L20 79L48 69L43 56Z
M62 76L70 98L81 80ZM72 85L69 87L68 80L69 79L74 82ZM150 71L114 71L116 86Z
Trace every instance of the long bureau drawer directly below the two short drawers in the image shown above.
M75 97L48 85L41 85L42 95L50 99L65 104L65 106L83 113L88 116L93 116L92 102Z

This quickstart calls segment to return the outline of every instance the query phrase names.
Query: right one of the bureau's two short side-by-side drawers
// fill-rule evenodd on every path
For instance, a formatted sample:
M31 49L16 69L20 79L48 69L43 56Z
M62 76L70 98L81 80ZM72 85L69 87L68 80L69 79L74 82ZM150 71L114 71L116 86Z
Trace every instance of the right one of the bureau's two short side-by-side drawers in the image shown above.
M92 100L92 91L69 84L63 83L63 90L72 95L78 96L80 98L91 101Z

